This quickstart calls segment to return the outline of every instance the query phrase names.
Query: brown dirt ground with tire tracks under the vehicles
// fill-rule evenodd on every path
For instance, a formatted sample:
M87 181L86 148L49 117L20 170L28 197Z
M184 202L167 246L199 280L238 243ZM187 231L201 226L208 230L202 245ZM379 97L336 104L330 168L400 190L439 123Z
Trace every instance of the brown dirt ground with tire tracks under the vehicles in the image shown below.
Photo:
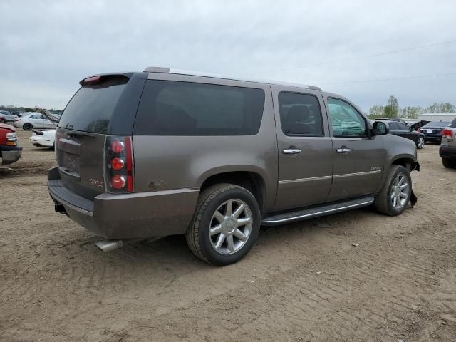
M0 172L1 341L456 341L456 170L420 150L418 204L263 228L208 266L181 236L103 254L56 214L54 152ZM359 244L359 245L358 245Z

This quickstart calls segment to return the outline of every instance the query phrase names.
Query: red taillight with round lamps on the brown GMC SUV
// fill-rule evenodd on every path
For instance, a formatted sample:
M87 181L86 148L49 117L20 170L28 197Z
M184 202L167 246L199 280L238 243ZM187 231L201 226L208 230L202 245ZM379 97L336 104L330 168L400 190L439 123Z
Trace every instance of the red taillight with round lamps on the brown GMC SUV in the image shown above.
M131 137L107 137L105 148L105 184L108 191L133 192L133 146Z

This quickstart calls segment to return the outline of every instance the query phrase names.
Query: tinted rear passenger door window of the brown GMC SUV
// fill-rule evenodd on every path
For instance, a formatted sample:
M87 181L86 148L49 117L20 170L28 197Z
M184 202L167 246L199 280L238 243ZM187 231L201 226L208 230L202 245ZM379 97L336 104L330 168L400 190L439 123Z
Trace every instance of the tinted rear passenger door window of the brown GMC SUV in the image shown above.
M320 104L314 95L281 92L279 111L282 131L286 135L324 135Z

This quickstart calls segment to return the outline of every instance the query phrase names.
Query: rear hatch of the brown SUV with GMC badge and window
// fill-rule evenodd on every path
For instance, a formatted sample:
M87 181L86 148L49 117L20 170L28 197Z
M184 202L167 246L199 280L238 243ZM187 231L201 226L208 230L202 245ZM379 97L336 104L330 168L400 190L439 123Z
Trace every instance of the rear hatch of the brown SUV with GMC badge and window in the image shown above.
M80 82L56 131L58 171L68 189L87 199L107 191L107 137L132 134L146 78L142 73L119 73Z

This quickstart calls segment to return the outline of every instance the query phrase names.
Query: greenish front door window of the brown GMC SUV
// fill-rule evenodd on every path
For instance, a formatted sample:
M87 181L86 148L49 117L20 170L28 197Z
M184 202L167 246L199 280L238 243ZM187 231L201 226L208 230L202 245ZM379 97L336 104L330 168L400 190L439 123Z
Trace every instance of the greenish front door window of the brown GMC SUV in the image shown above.
M352 105L343 100L328 98L328 106L335 137L366 137L366 121Z

